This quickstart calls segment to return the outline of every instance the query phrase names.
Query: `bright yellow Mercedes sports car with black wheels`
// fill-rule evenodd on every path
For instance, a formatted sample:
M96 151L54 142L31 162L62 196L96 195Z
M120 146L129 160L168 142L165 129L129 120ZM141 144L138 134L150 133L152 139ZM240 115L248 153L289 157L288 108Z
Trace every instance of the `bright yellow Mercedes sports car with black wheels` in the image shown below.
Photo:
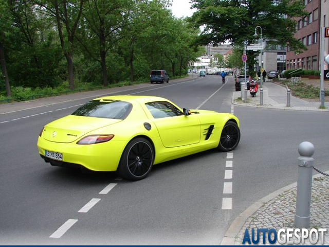
M106 96L48 123L38 149L53 166L117 171L140 180L161 162L212 148L233 150L239 126L232 114L181 109L165 98Z

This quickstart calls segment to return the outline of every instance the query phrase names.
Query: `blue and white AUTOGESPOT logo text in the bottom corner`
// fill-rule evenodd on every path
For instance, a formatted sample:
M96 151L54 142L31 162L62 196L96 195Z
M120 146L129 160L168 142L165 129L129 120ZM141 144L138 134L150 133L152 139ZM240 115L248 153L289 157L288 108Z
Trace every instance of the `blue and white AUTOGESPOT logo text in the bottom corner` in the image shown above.
M257 236L255 236L255 231L257 231ZM263 234L263 244L267 243L267 241L270 244L275 244L277 241L280 244L304 244L305 240L308 240L311 244L316 244L319 239L321 240L321 244L323 244L324 233L326 231L326 228L313 228L309 231L305 228L296 228L295 230L294 228L281 228L278 232L273 228L257 228L257 230L255 230L255 228L252 228L250 238L248 228L246 228L242 244L245 244L246 242L248 242L249 244L251 244L251 242L254 244L258 244L258 242L260 241L261 234Z

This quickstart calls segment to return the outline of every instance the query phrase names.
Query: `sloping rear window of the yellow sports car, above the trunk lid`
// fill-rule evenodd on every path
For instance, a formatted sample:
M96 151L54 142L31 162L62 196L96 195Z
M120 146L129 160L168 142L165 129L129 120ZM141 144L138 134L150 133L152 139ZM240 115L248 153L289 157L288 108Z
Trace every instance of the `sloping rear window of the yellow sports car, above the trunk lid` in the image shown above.
M120 100L92 100L76 110L72 115L85 117L101 117L125 119L131 112L133 105Z

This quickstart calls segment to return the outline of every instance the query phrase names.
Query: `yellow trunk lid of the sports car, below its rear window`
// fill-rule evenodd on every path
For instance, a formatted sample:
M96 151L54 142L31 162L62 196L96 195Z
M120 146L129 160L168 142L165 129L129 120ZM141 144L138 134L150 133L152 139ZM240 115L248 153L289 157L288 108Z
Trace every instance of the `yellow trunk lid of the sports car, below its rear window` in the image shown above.
M90 131L113 125L122 119L68 115L45 126L42 137L50 142L71 143Z

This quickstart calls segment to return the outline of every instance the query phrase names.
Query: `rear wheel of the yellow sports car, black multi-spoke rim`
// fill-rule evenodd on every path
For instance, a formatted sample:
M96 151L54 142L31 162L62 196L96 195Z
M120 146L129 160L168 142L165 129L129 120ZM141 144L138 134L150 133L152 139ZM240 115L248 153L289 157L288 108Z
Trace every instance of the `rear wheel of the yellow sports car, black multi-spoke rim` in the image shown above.
M118 166L118 175L127 180L141 180L152 170L154 149L144 138L136 138L125 147Z

